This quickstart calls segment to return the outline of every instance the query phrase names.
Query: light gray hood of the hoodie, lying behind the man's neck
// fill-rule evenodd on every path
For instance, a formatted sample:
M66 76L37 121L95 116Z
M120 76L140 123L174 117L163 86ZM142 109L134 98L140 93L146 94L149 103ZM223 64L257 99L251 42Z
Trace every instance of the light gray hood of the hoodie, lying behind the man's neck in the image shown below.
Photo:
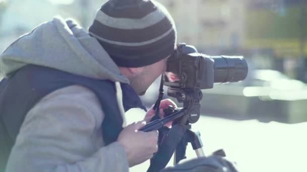
M55 17L21 36L0 55L4 77L35 64L65 72L129 83L98 41L72 20Z

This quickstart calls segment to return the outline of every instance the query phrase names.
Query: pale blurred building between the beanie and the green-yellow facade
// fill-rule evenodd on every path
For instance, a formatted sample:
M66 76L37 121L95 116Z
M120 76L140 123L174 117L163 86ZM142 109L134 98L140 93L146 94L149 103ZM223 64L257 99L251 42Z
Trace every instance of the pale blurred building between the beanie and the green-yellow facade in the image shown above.
M161 0L177 25L178 41L206 53L242 46L244 4L236 0Z

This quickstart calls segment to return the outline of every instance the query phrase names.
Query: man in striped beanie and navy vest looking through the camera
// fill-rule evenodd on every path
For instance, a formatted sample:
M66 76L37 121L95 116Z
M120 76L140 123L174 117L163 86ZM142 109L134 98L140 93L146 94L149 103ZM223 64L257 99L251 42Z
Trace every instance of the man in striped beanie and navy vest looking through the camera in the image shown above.
M0 56L6 171L128 171L152 157L158 132L124 113L144 109L137 95L175 44L173 19L148 0L108 1L88 32L56 17L12 43Z

